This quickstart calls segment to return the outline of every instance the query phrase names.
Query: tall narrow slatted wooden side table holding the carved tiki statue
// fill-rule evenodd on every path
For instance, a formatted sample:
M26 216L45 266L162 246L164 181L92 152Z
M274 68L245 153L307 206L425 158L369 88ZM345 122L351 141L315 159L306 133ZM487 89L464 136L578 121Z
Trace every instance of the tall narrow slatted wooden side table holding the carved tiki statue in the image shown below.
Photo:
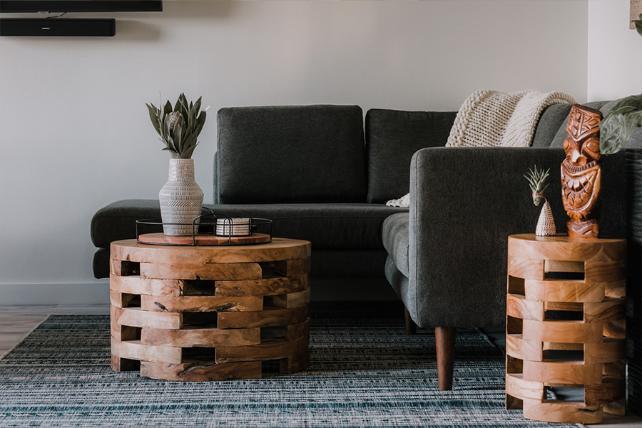
M544 422L624 414L626 240L511 235L506 409ZM584 389L583 402L547 399Z

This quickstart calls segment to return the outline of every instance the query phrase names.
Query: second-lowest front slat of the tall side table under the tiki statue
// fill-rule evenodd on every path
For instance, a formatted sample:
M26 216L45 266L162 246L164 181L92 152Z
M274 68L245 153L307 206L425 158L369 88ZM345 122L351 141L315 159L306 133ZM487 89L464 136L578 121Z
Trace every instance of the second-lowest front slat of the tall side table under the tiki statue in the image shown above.
M599 382L602 366L569 361L524 361L524 379L545 384L577 384Z

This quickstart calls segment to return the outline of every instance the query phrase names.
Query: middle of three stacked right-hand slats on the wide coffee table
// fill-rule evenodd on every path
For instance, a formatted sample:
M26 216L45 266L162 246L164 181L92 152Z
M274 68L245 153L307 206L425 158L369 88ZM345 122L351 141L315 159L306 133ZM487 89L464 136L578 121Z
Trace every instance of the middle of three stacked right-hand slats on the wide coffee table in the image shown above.
M263 308L260 312L218 312L218 328L274 327L300 324L309 315L307 306L290 309Z

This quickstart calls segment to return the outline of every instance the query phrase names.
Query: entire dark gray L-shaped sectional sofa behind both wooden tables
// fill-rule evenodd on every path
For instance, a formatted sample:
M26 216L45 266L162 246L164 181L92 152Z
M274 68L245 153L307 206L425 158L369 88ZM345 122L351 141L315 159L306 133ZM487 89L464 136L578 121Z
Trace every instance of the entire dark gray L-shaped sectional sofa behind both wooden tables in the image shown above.
M590 103L608 108L605 102ZM358 106L223 108L214 161L217 213L274 220L275 236L312 242L312 278L389 282L422 327L504 325L506 238L534 231L539 208L522 174L551 168L547 191L559 231L562 142L571 105L544 111L531 148L442 148L454 112ZM627 237L629 404L641 402L642 131L603 161L601 233ZM636 149L637 148L637 149ZM163 183L158 183L159 188ZM412 205L384 203L410 190ZM113 240L160 217L158 200L98 210L96 277L108 277Z

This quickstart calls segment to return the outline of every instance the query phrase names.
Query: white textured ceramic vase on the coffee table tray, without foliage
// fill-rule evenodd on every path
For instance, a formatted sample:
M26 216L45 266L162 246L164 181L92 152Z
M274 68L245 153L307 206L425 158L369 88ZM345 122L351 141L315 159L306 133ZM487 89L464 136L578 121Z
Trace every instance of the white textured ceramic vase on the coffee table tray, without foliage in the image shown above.
M163 225L165 235L191 235L192 221L203 208L203 190L194 181L193 159L170 159L169 180L158 193L158 199L163 223L185 224ZM198 226L195 232L198 233Z

